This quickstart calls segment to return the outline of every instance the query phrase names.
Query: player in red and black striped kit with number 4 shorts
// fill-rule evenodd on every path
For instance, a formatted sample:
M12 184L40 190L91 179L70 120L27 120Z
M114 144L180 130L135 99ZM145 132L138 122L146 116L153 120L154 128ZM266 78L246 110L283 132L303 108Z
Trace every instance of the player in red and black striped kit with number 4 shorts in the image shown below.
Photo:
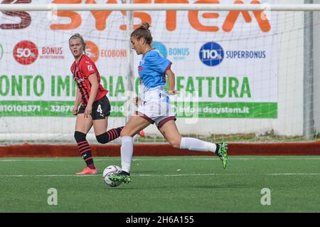
M93 125L97 141L106 144L119 137L123 127L106 132L110 115L110 102L106 96L108 91L100 84L100 75L95 63L85 55L85 41L80 34L76 33L70 37L69 48L75 57L75 62L71 65L71 72L73 80L78 85L75 106L73 107L73 115L77 115L75 140L80 155L87 164L85 169L76 174L97 174L90 144L86 139L87 133ZM139 134L144 136L144 132Z

